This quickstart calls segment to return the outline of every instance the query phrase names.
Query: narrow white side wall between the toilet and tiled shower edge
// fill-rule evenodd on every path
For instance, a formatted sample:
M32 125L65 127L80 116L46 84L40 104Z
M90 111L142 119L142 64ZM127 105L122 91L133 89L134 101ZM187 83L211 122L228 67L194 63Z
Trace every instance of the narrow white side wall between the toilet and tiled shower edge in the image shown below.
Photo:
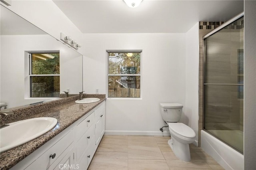
M198 142L199 22L186 33L186 125ZM198 143L197 143L198 144Z

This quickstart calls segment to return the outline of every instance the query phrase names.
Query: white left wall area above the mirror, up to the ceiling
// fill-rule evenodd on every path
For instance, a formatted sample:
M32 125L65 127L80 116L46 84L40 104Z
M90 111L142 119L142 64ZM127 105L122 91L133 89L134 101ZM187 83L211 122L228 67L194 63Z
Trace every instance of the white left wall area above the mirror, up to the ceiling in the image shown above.
M58 40L63 32L81 42L80 30L52 0L12 0L12 6L0 3Z

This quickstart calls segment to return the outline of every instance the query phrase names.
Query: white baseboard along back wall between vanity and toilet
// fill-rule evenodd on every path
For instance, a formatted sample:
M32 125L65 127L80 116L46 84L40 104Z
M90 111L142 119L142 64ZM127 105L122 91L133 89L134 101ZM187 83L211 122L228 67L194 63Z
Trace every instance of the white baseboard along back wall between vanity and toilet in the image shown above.
M105 130L105 135L142 135L142 136L170 136L170 132L158 131L128 131L128 130Z

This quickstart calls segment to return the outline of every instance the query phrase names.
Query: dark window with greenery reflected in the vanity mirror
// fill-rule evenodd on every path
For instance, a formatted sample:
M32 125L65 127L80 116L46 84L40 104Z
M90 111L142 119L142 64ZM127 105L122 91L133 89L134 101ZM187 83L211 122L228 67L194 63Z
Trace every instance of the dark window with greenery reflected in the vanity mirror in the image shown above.
M60 53L30 53L30 97L60 96Z

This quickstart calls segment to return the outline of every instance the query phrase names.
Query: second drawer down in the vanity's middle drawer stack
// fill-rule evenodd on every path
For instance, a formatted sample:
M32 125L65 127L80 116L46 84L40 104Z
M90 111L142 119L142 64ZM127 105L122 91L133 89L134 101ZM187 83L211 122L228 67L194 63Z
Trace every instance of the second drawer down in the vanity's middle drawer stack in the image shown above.
M94 138L94 126L91 126L87 132L78 140L76 143L76 158L77 160L80 160L83 152L86 150L87 146L92 143L92 141L95 141ZM93 142L94 143L94 142Z

